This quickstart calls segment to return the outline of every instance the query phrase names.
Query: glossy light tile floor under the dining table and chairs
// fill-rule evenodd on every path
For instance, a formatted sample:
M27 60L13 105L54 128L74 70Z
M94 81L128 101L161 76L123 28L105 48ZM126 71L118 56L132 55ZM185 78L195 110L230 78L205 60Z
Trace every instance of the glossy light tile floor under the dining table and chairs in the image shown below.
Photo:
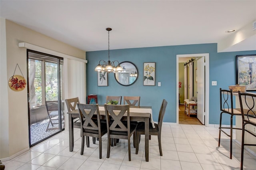
M234 134L235 135L235 134ZM102 159L98 141L90 141L80 155L80 129L74 129L74 150L69 152L68 130L49 138L12 160L3 162L6 170L239 170L240 145L233 144L233 158L229 159L229 139L222 133L218 147L218 128L203 125L163 125L160 156L157 136L149 142L149 162L145 162L144 135L139 152L131 147L132 161L128 161L127 140L120 139L111 147L106 158L107 140L103 136ZM91 139L91 138L90 138ZM256 170L256 157L245 151L244 170Z

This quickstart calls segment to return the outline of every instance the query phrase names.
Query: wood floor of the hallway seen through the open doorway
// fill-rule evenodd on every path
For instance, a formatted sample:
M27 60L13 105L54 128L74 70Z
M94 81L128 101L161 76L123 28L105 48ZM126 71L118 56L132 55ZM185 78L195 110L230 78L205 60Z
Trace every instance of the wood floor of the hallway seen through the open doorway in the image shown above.
M187 125L202 125L202 123L197 119L196 115L188 115L185 114L185 106L179 105L179 124L187 124Z

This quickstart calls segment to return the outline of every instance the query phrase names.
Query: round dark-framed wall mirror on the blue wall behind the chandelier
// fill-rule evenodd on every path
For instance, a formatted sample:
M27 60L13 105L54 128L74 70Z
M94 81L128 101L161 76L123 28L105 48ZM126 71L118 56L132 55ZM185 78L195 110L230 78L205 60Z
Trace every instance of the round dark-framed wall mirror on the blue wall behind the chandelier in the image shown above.
M139 76L137 66L130 61L123 61L120 63L120 66L124 70L114 74L117 83L123 86L134 84Z

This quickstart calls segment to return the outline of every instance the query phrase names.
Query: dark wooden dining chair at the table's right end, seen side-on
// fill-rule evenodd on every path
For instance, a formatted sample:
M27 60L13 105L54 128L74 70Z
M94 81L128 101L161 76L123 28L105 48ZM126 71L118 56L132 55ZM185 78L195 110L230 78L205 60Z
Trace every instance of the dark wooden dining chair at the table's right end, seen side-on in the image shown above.
M162 153L162 144L161 144L161 130L162 130L162 123L164 119L164 114L167 106L167 101L164 99L162 101L162 105L160 107L159 115L158 115L158 124L154 124L155 128L153 128L152 123L149 124L149 135L157 135L158 136L158 146L160 156L163 156ZM136 154L138 154L139 150L139 142L140 142L140 135L145 134L145 122L139 122L136 128Z

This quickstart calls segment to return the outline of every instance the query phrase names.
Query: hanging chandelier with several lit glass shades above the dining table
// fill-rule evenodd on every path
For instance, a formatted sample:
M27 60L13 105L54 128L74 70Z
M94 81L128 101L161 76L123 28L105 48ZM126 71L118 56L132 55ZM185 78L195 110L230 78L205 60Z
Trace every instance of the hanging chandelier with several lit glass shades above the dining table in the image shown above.
M106 30L108 31L108 62L104 61L104 60L100 60L99 64L96 66L96 68L94 69L94 71L100 71L100 72L121 72L123 71L123 68L120 66L119 62L117 60L115 61L110 61L110 57L109 57L109 32L112 30L112 28L106 28ZM100 64L100 62L102 61L102 64ZM115 62L117 62L118 64L115 66Z

